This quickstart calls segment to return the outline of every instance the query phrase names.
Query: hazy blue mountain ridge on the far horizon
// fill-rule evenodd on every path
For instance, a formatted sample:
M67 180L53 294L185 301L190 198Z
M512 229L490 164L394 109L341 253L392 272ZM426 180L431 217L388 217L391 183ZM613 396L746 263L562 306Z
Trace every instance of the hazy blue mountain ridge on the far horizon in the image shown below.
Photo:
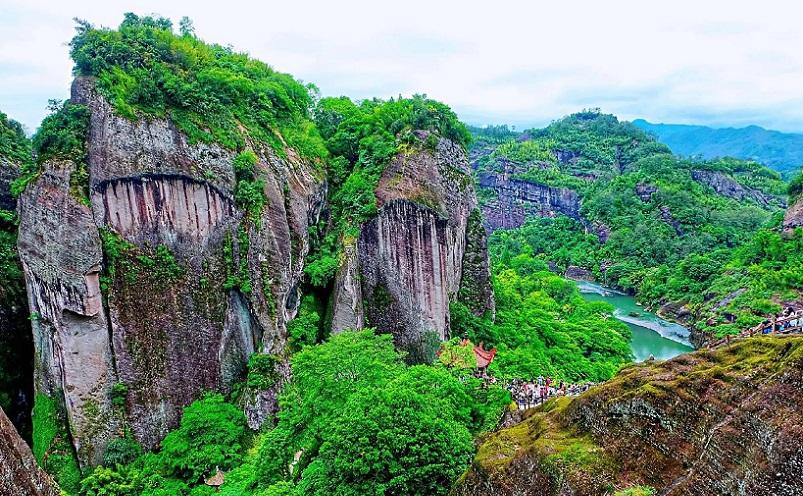
M735 157L761 162L781 173L803 165L803 134L771 131L760 126L712 128L689 124L633 124L653 133L678 155L703 158Z

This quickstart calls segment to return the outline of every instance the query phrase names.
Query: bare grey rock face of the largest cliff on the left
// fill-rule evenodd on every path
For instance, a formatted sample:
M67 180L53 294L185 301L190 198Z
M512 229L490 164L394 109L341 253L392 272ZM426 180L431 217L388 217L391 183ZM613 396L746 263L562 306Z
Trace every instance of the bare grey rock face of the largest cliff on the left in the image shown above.
M21 198L18 244L39 315L37 391L64 403L88 464L120 423L153 448L252 352L283 350L324 190L292 150L281 159L251 143L267 201L246 221L235 152L189 143L169 120L116 115L91 79L76 80L72 101L90 110L91 206L70 192L73 164L46 163ZM122 419L116 383L128 388Z

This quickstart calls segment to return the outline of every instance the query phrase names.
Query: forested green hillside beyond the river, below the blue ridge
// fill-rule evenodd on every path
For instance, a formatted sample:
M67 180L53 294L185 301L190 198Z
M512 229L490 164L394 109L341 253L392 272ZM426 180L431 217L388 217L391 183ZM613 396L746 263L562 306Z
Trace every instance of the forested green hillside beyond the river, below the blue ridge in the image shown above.
M533 218L495 233L497 259L530 252L561 272L587 269L650 306L686 305L692 325L720 335L760 322L801 289L799 240L780 233L787 184L756 162L679 158L597 111L501 140L498 129L475 132L478 171L507 167L582 196L578 219ZM739 194L718 193L701 175Z

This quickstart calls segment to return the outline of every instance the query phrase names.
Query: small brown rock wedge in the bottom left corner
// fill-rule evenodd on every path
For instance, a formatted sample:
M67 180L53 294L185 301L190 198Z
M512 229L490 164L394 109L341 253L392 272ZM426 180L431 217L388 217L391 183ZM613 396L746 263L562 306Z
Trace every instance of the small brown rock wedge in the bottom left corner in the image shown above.
M0 408L0 494L59 496L53 479L39 468L31 449Z

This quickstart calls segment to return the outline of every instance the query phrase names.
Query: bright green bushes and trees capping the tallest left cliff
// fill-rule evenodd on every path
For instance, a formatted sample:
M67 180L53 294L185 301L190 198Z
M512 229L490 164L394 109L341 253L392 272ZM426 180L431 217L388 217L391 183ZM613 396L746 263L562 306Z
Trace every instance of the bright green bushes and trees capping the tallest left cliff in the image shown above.
M243 149L253 140L283 155L326 156L311 109L317 89L230 47L197 38L189 19L126 14L118 29L78 20L76 75L95 76L121 115L169 117L191 141Z

